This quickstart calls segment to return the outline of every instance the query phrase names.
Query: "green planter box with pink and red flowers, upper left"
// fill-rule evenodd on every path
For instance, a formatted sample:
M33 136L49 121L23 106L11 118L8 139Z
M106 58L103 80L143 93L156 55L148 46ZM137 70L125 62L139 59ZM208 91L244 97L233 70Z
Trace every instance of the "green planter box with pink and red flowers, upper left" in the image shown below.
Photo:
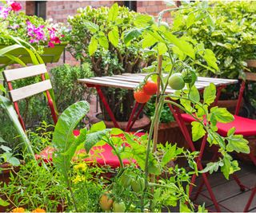
M20 37L38 49L45 63L57 62L67 44L63 34L64 27L61 24L44 21L37 16L18 12L21 9L20 3L9 1L1 7L0 49L14 44L6 35ZM25 64L31 63L30 54L22 48L10 53L14 57L19 57ZM6 65L12 62L14 61L9 57L0 57L0 64Z

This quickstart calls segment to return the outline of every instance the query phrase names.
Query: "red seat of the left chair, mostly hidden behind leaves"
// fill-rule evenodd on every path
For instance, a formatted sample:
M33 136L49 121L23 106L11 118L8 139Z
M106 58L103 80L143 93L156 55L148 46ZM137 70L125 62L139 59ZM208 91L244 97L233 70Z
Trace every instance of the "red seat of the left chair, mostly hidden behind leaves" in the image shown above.
M130 132L131 134L134 134L134 132ZM145 133L143 132L138 132L136 134L134 134L135 136L142 136ZM79 131L78 130L74 130L74 136L78 136L79 135ZM102 152L100 154L98 154L98 156L95 159L90 159L90 158L86 158L85 161L89 161L89 162L97 162L98 165L100 166L110 166L111 168L118 168L120 167L120 163L118 160L118 156L115 156L112 152L112 148L110 147L109 144L105 144L103 146L98 146L98 147L94 147L90 150L90 154L93 155L94 152L97 149L101 149ZM54 148L52 147L46 147L44 150L42 150L42 152L40 152L39 155L36 155L37 159L42 159L44 160L46 163L52 162L52 155L54 152ZM86 150L82 149L80 150L77 154L81 154L81 153L86 153ZM134 163L136 163L135 160L132 160ZM130 164L130 160L123 160L123 164Z

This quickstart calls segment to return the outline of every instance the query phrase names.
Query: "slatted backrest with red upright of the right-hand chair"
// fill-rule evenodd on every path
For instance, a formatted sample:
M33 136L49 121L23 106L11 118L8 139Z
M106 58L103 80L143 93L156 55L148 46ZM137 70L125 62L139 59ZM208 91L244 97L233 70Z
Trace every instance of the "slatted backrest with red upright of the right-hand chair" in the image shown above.
M247 62L247 66L250 68L256 68L256 60L249 60L246 61ZM240 90L239 90L239 95L238 95L238 104L235 108L235 112L234 114L237 116L241 107L241 103L242 103L242 96L243 93L246 89L246 81L256 81L256 73L249 73L249 72L245 72L245 77L239 77L242 80L241 86L240 86Z

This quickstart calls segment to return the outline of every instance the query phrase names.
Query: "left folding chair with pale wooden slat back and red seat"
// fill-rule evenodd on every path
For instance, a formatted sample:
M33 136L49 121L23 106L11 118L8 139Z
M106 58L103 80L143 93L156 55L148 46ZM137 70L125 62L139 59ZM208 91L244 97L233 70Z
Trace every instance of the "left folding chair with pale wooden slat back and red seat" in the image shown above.
M50 97L49 90L52 89L52 85L50 83L50 80L46 80L46 65L33 65L25 68L18 68L18 69L7 69L3 71L3 76L5 78L5 81L7 82L9 94L10 94L10 100L14 104L15 111L18 115L18 120L22 124L22 128L24 131L26 131L26 125L24 124L24 121L22 120L21 113L18 108L18 101L21 101L23 99L26 99L27 97L34 96L38 93L46 93L46 98L48 101L48 105L50 107L50 112L54 120L54 124L58 121L58 116L56 114L56 110L54 108L53 101ZM22 88L13 89L12 81L16 81L19 79L23 79L26 77L35 77L35 76L41 76L42 81L32 84L32 85L26 85ZM74 130L74 136L79 135L79 130ZM136 136L142 136L143 133L136 133ZM102 147L103 152L102 157L96 158L97 164L104 166L104 165L110 165L112 168L118 168L120 166L119 160L117 156L114 156L112 153L112 148L110 145L105 144ZM51 162L52 161L52 154L54 152L54 148L47 147L42 152L40 152L39 155L37 155L37 158L41 158L45 162ZM85 151L82 151L85 152ZM90 153L93 153L94 150L92 150ZM91 161L90 159L86 159ZM123 160L123 164L130 164L129 160Z

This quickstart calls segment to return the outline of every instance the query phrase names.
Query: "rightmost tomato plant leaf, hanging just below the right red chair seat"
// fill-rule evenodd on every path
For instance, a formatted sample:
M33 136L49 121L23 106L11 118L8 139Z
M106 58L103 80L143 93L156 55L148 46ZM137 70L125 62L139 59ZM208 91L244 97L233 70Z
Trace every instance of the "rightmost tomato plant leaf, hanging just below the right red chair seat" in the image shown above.
M248 140L244 139L242 135L232 135L229 136L227 139L228 144L226 145L226 150L228 152L242 152L249 154L250 147L248 146Z

